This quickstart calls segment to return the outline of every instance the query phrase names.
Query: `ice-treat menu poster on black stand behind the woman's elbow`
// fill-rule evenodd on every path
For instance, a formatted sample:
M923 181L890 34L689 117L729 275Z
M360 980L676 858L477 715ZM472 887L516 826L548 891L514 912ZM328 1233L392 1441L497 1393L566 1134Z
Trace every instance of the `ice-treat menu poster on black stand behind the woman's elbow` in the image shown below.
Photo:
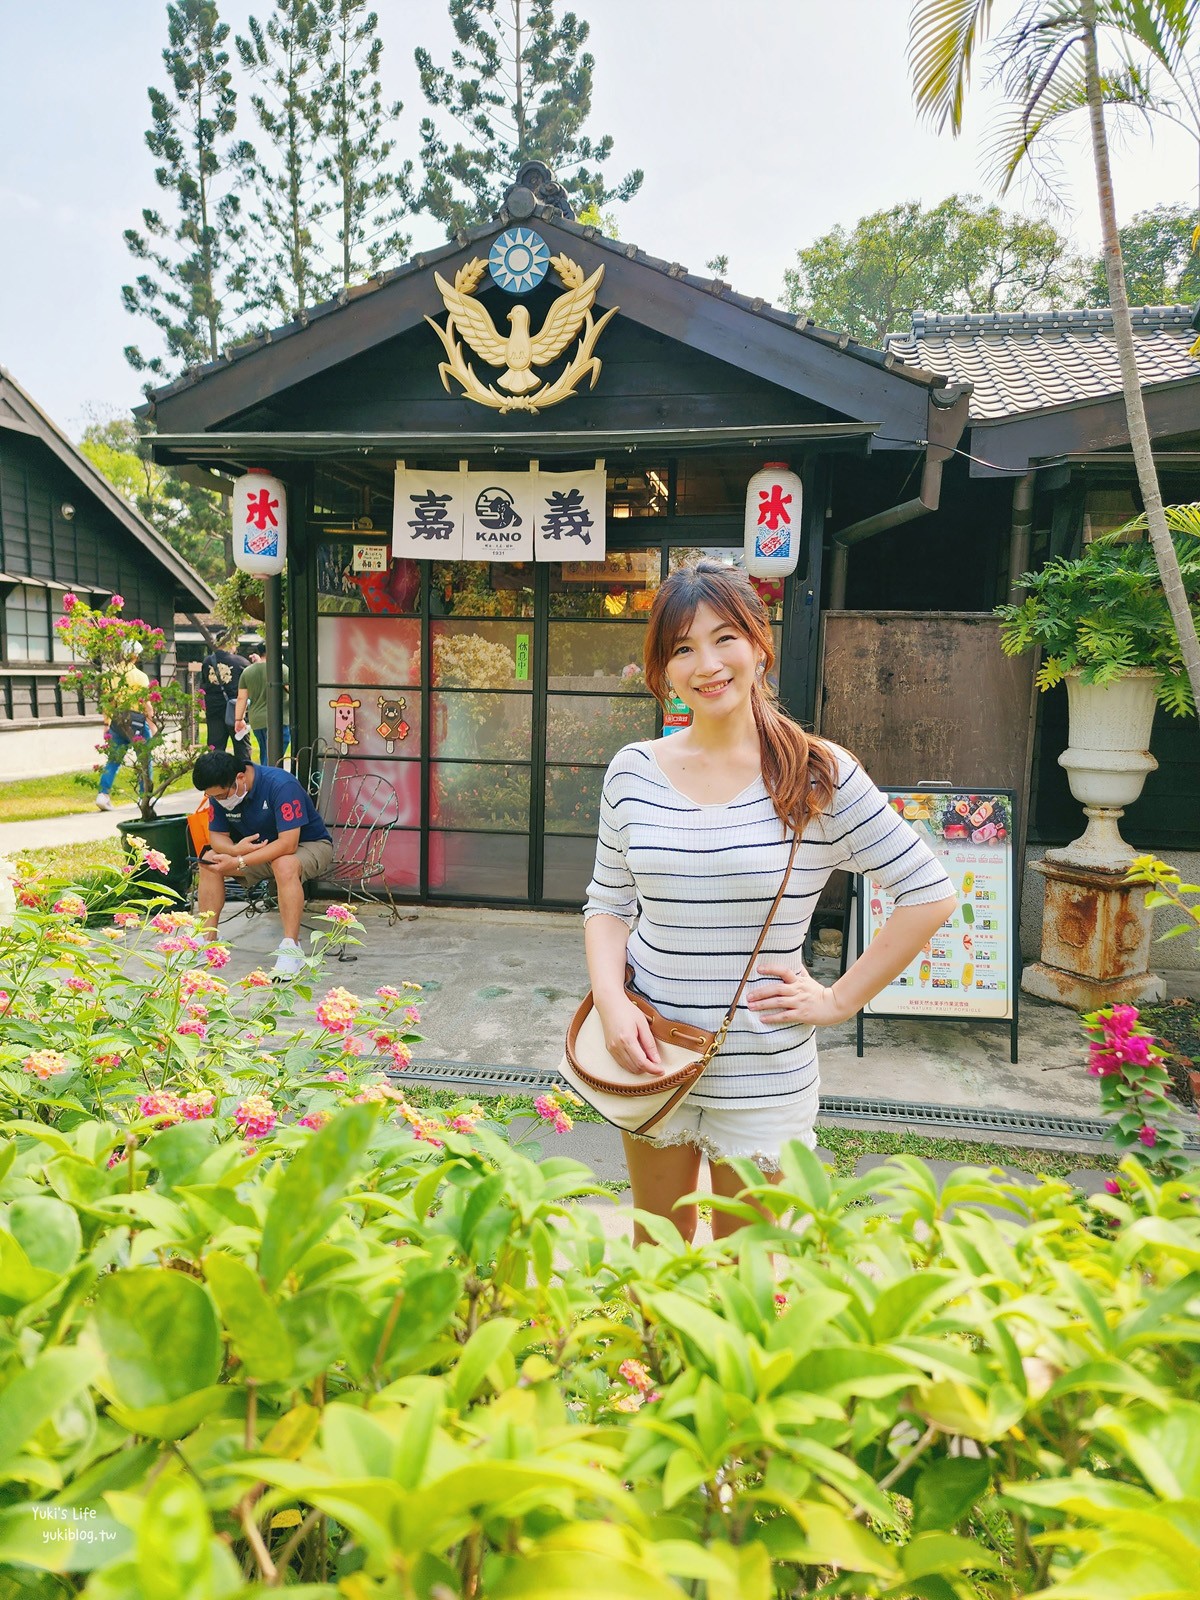
M1013 1019L1016 830L1010 790L883 790L954 883L958 904L925 947L866 1006L870 1016ZM862 949L891 915L888 890L864 882Z

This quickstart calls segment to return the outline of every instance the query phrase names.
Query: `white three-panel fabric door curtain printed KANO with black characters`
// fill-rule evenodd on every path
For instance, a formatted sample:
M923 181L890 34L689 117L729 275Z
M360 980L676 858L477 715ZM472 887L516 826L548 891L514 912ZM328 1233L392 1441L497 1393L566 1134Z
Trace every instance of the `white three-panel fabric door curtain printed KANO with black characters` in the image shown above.
M434 562L603 562L603 462L582 472L395 469L392 554Z

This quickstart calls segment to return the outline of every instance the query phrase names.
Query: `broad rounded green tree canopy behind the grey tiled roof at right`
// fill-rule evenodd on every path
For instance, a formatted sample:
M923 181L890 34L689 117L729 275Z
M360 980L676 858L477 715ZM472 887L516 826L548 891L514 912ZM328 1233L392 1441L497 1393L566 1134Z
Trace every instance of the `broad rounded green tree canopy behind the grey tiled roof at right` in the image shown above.
M1080 293L1082 262L1066 235L978 195L872 211L798 250L784 274L792 310L875 346L914 310L1026 310Z

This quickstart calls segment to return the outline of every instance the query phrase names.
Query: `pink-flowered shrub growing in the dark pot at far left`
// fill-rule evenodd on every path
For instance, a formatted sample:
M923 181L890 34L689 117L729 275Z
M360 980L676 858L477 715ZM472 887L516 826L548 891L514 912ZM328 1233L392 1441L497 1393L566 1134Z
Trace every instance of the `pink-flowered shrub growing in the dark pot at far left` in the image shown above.
M126 621L123 610L122 595L114 595L104 610L93 610L72 594L62 597L62 616L54 629L75 666L61 682L94 701L109 726L130 741L126 754L138 770L141 816L150 821L154 802L190 773L200 754L198 746L186 746L182 739L184 728L195 725L197 701L179 682L152 682L149 691L128 682L131 666L149 662L166 648L166 635L141 618ZM149 723L142 717L147 712ZM107 760L107 731L96 749Z

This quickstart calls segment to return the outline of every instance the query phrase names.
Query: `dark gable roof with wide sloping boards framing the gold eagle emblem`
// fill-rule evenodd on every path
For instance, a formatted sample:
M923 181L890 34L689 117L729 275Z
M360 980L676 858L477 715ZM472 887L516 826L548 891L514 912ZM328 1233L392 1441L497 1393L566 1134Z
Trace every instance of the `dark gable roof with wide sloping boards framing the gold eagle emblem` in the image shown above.
M230 347L221 362L154 390L141 414L154 416L160 435L168 438L198 430L235 430L240 414L274 395L419 326L426 314L442 304L432 282L435 269L453 270L512 221L528 226L534 218L547 242L571 250L586 270L603 262L603 299L619 304L622 318L843 416L870 421L878 427L878 446L922 445L930 432L931 397L949 408L962 394L962 386L923 370L915 360L816 328L805 315L781 310L762 298L736 294L718 278L698 277L678 262L650 256L637 245L570 221L552 206L536 206L531 216L522 218L501 210L491 222L459 234L453 243L342 291L285 328ZM563 426L555 432L562 434Z

